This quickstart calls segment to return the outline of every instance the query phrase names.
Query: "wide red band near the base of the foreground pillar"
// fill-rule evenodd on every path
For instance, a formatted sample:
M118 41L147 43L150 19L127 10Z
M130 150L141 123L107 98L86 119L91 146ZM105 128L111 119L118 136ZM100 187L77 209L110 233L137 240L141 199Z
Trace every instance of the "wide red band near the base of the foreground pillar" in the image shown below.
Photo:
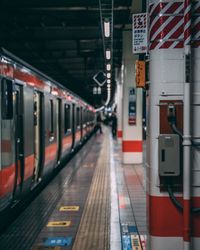
M183 228L183 213L180 212L169 197L147 196L149 213L149 233L157 237L184 237L188 241L187 229ZM177 197L182 203L183 199ZM186 201L187 202L187 201ZM192 207L200 207L200 197L193 197ZM192 236L200 237L200 216L193 214L191 218Z

